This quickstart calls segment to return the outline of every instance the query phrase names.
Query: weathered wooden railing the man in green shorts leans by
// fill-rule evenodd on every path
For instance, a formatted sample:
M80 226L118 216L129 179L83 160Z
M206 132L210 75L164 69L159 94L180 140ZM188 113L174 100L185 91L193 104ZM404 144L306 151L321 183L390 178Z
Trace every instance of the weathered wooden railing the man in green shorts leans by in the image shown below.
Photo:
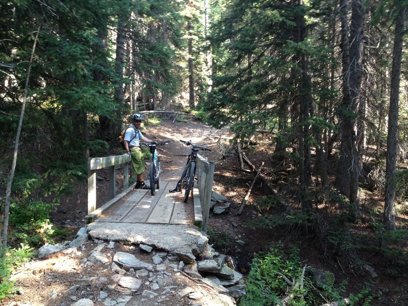
M123 164L123 189L129 187L130 155L88 158L88 214L96 210L96 170L109 167L109 199L116 196L115 166Z

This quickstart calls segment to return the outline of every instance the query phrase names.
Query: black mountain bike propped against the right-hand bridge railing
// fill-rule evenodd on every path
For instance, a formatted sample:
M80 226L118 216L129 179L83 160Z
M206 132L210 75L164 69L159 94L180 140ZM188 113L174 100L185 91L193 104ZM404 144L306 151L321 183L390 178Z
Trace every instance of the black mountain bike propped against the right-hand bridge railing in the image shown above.
M194 186L194 176L195 176L195 171L196 171L196 159L197 159L197 154L199 150L202 151L211 151L209 148L205 147L200 147L197 146L191 141L184 141L180 140L183 142L185 145L192 146L191 152L187 158L187 164L183 169L183 174L179 182L177 182L177 186L175 189L170 190L170 192L183 192L183 189L185 190L184 192L184 202L187 202L188 196Z

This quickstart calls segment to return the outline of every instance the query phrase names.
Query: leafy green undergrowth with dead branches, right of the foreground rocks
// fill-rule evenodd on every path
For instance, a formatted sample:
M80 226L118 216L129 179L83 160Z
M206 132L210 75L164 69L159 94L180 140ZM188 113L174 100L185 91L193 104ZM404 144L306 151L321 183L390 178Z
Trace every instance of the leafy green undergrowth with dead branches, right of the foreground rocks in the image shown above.
M278 243L267 253L257 254L252 261L241 306L320 305L343 299L346 282L337 287L316 283L312 269L300 261L298 249L289 249L289 253L285 253L284 245ZM350 305L368 306L372 298L367 285L359 294L350 296L349 301Z

